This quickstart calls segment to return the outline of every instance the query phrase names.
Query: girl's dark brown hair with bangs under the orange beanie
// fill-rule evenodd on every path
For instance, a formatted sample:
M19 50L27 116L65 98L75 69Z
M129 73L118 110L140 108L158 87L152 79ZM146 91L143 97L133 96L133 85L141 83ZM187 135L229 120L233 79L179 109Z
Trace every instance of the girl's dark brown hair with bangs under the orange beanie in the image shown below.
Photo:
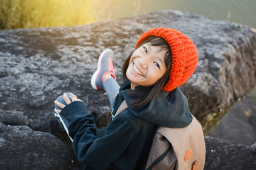
M170 46L168 45L168 43L166 43L166 41L163 38L156 37L156 36L150 36L150 38L145 39L145 41L142 41L136 49L140 48L140 46L144 45L145 43L150 43L150 45L152 45L152 46L159 46L160 50L166 50L166 53L164 56L164 64L166 66L166 72L164 73L163 77L160 78L154 85L152 85L150 87L136 86L135 90L131 90L128 93L128 95L133 98L133 100L131 101L131 106L134 108L140 108L142 106L147 105L148 103L150 103L150 101L152 101L152 99L154 99L154 97L156 97L161 92L164 85L169 80L169 74L170 74L170 70L171 70L172 52L171 52L171 49L170 49ZM133 50L133 52L135 50ZM126 76L126 71L129 66L129 61L131 59L132 53L125 60L124 65L123 65L124 80L129 80Z

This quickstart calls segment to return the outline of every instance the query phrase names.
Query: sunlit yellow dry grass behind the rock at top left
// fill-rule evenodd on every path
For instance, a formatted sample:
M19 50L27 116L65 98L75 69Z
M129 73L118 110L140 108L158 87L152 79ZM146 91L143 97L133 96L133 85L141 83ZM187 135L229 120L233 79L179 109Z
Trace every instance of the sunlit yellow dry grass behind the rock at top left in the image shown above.
M61 27L95 22L93 0L1 0L0 29ZM97 0L94 0L94 3Z

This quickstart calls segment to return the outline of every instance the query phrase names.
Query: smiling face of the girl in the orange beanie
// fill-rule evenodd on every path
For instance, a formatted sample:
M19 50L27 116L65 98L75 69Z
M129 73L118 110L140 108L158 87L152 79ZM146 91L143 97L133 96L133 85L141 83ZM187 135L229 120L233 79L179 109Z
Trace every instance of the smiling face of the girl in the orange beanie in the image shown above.
M164 75L166 50L160 49L159 46L145 43L132 53L126 71L126 76L131 81L131 89L134 90L137 85L154 85Z

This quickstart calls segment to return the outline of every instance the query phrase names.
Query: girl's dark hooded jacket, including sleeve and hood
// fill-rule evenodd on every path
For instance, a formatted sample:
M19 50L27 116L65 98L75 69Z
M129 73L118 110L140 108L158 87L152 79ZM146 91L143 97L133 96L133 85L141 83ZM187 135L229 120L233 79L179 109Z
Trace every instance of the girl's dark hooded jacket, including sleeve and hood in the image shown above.
M145 169L157 125L186 127L192 120L188 100L179 90L161 91L144 108L134 109L127 95L130 82L120 87L107 127L97 129L93 116L81 101L68 104L61 115L71 122L68 127L77 159L84 169ZM126 101L128 110L115 118L116 110Z

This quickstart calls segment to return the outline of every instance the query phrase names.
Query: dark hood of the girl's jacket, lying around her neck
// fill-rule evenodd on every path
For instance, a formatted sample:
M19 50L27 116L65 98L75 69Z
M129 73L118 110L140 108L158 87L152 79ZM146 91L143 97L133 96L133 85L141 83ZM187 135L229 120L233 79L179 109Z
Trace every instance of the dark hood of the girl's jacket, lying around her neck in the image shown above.
M172 92L161 91L152 101L142 108L132 108L131 82L125 81L120 87L119 93L124 96L131 113L136 117L147 120L164 127L186 127L192 121L188 100L179 88Z

